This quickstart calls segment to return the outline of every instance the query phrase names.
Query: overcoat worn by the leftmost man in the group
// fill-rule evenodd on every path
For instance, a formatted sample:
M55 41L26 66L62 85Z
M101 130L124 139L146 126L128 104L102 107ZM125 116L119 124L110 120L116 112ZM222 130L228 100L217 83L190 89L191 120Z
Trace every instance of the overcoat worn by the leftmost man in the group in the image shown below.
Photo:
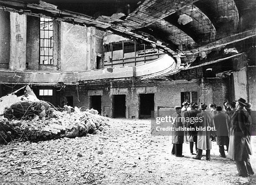
M175 121L173 122L174 131L172 132L172 142L174 144L182 144L184 142L184 131L182 131L183 124L181 115L175 112L172 114L172 117L176 117Z

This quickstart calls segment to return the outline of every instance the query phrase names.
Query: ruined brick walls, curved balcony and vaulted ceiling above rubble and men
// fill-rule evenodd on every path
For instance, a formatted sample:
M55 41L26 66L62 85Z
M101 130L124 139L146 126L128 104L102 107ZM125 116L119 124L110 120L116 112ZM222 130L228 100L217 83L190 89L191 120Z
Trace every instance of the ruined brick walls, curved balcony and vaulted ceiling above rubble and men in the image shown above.
M0 96L30 84L56 107L135 119L183 101L243 97L255 105L255 7L255 0L0 1Z

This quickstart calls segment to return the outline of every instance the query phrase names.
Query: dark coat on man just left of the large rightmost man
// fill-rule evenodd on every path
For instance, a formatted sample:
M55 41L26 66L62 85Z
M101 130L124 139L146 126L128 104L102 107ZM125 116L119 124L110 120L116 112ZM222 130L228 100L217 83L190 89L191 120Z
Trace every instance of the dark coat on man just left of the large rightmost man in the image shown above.
M228 132L228 124L229 117L228 114L217 112L213 116L213 124L216 129L216 142L218 145L228 145L229 143L229 132Z

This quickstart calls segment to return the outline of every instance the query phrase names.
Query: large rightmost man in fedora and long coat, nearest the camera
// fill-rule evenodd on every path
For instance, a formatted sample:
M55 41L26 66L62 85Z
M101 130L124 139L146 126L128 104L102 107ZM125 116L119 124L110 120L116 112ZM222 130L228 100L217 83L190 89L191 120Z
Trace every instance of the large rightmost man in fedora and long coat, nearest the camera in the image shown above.
M247 177L253 175L249 155L251 150L251 119L245 109L246 100L240 98L236 101L236 112L231 116L230 142L228 157L236 162L238 173L236 175Z

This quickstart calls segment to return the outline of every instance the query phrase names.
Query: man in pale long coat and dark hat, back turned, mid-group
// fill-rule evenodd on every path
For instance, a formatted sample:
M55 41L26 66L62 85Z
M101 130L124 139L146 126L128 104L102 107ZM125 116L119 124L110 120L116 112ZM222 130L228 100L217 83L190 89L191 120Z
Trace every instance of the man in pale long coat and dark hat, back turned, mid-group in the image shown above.
M202 150L206 150L206 160L210 160L210 150L212 149L211 131L207 131L207 127L214 127L212 124L212 114L206 111L207 105L200 104L201 113L197 114L198 122L196 127L200 130L197 132L197 156L193 159L201 160ZM202 120L202 121L201 121Z

